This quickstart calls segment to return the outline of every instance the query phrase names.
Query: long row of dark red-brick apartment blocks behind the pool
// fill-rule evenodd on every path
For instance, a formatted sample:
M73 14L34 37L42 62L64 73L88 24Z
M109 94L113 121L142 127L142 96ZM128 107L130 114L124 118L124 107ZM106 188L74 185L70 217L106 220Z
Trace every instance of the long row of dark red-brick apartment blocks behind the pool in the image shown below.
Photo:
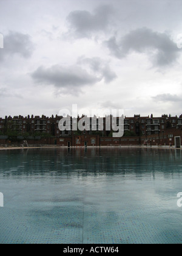
M99 130L98 118L88 119L87 130L85 129L82 132L73 130L72 127L75 122L78 123L81 118L83 116L78 116L77 120L70 118L70 130L61 131L58 124L62 116L5 116L5 118L0 118L0 144L3 144L10 136L17 136L19 140L25 138L32 141L32 143L41 140L41 144L62 146L135 145L144 143L152 146L160 144L175 145L177 144L176 137L180 137L181 140L182 115L179 117L171 115L161 115L160 117L153 115L125 116L124 136L121 138L112 138L112 129L111 131L106 130L106 117L103 118L103 130ZM118 122L119 119L117 119L117 124ZM111 127L112 124L110 123ZM44 140L41 139L42 137L44 137Z

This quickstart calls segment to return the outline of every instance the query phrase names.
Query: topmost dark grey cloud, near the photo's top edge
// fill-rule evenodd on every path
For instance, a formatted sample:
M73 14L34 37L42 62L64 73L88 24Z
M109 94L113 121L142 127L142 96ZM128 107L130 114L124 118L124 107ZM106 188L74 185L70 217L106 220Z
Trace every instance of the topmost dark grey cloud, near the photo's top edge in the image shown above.
M67 16L70 32L76 38L89 38L93 32L103 31L109 27L113 14L111 5L100 5L94 13L86 10L75 10Z

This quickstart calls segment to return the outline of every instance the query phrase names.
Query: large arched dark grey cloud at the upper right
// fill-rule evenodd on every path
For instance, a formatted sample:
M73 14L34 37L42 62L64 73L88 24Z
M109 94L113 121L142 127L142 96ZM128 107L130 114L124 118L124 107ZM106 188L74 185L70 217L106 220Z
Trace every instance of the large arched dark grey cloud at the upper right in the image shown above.
M154 66L170 65L180 55L180 49L169 35L146 27L130 31L118 42L115 37L111 37L104 44L118 59L126 57L132 51L148 54Z

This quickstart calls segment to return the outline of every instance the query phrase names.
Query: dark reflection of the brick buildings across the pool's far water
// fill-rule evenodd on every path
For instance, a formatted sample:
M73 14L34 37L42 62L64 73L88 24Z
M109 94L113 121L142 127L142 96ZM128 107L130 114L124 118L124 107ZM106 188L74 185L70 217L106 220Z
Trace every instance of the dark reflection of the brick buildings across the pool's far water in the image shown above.
M0 177L66 175L145 177L181 173L181 151L167 149L27 149L0 153Z

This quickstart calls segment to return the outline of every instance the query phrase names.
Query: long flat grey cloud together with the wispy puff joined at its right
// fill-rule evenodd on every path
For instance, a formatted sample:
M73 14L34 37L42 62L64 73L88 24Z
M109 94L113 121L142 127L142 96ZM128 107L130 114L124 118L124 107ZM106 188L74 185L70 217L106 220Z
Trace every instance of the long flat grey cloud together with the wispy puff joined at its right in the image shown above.
M84 67L84 68L83 68ZM42 85L53 85L62 89L64 94L72 94L86 85L95 85L104 80L106 84L116 79L116 74L110 69L109 63L99 57L79 57L72 66L53 65L49 68L39 66L32 78Z

